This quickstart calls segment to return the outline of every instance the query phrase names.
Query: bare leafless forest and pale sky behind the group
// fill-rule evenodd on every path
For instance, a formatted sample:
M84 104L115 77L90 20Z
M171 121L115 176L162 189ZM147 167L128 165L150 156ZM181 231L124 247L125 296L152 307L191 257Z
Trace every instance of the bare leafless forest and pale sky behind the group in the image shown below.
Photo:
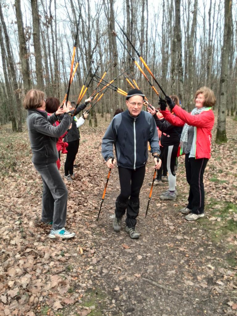
M192 109L197 88L206 85L214 90L219 109L216 141L227 141L226 115L236 117L237 95L237 4L231 0L3 0L0 17L0 123L11 121L13 131L22 131L22 100L30 88L64 99L79 18L74 68L82 55L69 100L77 100L87 75L86 84L99 65L98 76L107 70L105 80L118 77L114 85L124 91L131 88L126 77L133 78L157 105L155 91L131 59L139 62L119 31L119 21L163 90L178 94L186 110ZM85 98L96 85L91 82ZM108 89L90 112L90 125L97 126L98 114L104 117L123 104L123 95Z

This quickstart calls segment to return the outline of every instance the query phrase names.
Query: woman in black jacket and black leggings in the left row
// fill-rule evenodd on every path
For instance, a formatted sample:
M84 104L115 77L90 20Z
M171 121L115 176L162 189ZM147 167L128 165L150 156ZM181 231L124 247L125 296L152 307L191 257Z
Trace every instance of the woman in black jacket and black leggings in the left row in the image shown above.
M76 116L79 112L81 112L87 104L91 102L91 99L85 100L85 103L82 103L80 106L76 108L76 110L72 110L72 107L70 107L70 112ZM68 102L70 103L70 102ZM73 176L73 164L74 160L76 158L76 154L78 152L79 148L79 138L80 134L78 133L78 129L76 127L76 120L72 120L72 128L68 131L67 135L64 137L64 142L68 143L67 147L67 157L66 161L64 163L64 177L72 182L72 176Z

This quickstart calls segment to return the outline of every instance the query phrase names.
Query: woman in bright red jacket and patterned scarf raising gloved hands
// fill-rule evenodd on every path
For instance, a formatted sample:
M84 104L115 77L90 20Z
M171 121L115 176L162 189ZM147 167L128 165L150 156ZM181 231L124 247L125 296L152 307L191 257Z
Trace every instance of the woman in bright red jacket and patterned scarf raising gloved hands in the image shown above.
M167 102L167 103L166 103ZM188 205L181 209L188 221L204 217L203 174L211 152L211 130L214 125L214 113L211 107L216 98L207 87L198 89L194 97L195 108L191 113L175 105L170 97L160 99L161 113L164 118L176 126L184 126L180 138L180 148L185 153L186 179L190 185ZM176 116L166 110L167 104Z

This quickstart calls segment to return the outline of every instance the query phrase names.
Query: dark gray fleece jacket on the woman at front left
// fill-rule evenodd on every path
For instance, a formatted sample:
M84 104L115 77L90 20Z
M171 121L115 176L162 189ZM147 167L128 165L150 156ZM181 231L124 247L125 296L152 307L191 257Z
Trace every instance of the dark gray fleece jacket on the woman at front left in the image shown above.
M72 117L64 115L61 123L55 127L52 125L58 120L55 114L48 116L47 112L37 109L28 109L27 114L27 129L33 153L32 162L34 164L56 162L58 160L57 138L68 130Z

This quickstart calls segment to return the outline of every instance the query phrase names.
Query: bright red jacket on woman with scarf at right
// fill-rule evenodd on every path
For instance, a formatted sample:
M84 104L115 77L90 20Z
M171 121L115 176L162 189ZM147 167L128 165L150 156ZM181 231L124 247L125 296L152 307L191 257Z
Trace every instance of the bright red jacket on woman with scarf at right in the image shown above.
M168 110L161 111L164 118L175 126L183 126L187 123L197 127L196 159L210 158L211 156L211 130L214 125L214 113L210 107L200 114L191 115L179 106L174 106L172 115Z

